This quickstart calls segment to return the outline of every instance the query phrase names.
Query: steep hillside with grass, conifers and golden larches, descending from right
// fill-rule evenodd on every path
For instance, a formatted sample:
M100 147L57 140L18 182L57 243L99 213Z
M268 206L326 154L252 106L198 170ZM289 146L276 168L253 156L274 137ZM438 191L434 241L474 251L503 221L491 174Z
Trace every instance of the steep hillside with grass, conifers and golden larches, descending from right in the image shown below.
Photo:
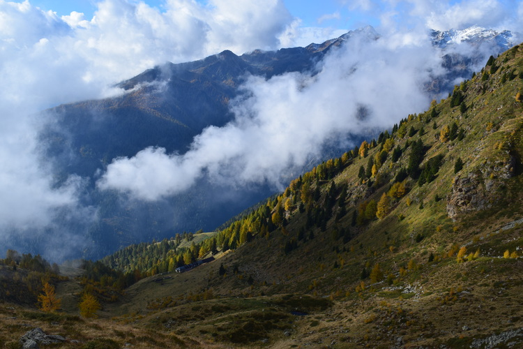
M168 251L213 262L169 273L144 248L129 259L154 275L104 301L99 320L1 305L0 341L24 334L20 318L79 348L522 346L522 95L518 45L426 112ZM117 257L105 262L126 271Z

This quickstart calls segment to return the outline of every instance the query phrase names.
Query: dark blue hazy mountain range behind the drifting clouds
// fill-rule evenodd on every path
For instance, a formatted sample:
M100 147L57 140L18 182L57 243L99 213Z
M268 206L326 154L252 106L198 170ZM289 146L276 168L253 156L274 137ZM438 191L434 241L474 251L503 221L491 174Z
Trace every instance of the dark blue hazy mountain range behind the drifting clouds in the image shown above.
M87 228L93 246L84 251L84 257L98 258L120 246L172 237L183 230L213 230L273 193L273 188L259 186L249 191L227 188L225 195L224 188L202 181L190 193L148 203L121 200L119 193L100 193L95 183L97 171L113 158L134 156L146 147L164 147L169 153L183 154L204 128L223 126L233 119L229 101L241 93L238 87L248 75L314 75L325 55L354 35L363 35L367 40L379 38L372 27L365 27L307 47L255 50L241 56L226 50L199 61L166 63L117 84L126 91L121 96L47 110L52 122L40 133L40 140L47 161L54 163L56 184L70 174L88 178L89 186L82 200L84 205L98 207L98 221ZM434 82L426 87L432 96L450 92L456 80L470 77L476 64L484 64L478 62L485 59L484 51L498 54L516 40L516 35L509 31L497 33L479 27L432 31L430 37L434 47L441 50L446 69L445 75L434 77ZM462 43L471 44L474 50L465 54L453 49ZM483 50L483 54L475 50ZM332 149L324 158L340 151ZM324 158L314 161L318 163Z

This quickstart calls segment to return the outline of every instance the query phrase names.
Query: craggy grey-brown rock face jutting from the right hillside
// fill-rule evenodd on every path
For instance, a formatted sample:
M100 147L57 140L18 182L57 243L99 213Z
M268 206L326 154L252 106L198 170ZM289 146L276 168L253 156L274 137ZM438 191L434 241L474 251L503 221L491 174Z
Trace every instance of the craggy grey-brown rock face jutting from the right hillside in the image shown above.
M492 185L489 181L488 186L492 188ZM462 212L480 211L491 206L481 174L469 173L467 177L455 177L452 193L447 197L447 214L450 218L455 220Z

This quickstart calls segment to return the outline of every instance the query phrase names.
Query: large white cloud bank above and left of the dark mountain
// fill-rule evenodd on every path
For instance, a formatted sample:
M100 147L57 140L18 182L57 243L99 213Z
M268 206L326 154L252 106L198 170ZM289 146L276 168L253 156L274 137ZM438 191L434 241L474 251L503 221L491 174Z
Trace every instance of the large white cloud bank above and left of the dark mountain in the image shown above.
M162 11L130 0L97 6L92 18L77 12L58 17L27 0L0 0L1 246L41 237L41 249L45 244L51 251L54 242L44 237L65 236L59 221L88 223L96 216L82 204L85 179L57 179L40 153L38 132L52 115L38 112L121 94L112 87L116 82L165 61L276 48L293 21L279 0L169 0Z

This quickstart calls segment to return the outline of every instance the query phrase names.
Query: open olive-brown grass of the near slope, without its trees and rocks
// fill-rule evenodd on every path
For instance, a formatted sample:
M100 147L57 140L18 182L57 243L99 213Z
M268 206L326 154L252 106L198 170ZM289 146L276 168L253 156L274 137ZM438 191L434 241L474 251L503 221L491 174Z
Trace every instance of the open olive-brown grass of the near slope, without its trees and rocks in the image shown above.
M294 210L289 213L286 234L276 231L269 239L257 237L184 274L139 281L118 303L105 304L100 312L102 320L76 320L82 322L77 326L82 328L77 330L80 333L52 328L50 321L44 321L44 325L52 333L66 334L82 343L97 336L120 346L134 341L131 343L138 348L146 346L148 339L136 340L146 336L144 333L157 341L149 340L151 348L162 348L172 336L191 348L437 348L441 344L462 348L473 339L523 328L522 252L520 258L502 258L507 249L512 252L523 246L522 225L502 229L523 217L523 104L515 101L523 82L516 77L501 84L503 73L509 69L523 71L523 47L503 54L497 65L502 67L486 82L479 75L467 84L467 112L450 108L448 98L437 105L437 118L427 123L427 112L421 120L413 117L408 122L407 129L423 126L425 134L418 132L402 139L395 135L395 144L401 147L407 140L421 137L427 145L425 161L443 154L444 163L430 184L420 187L409 180L409 193L395 202L393 211L382 220L351 227L354 207L349 207L337 224L355 235L346 244L333 239L336 224L331 219L326 231L312 228L314 239L300 242L298 248L285 254L285 242L305 224L305 214ZM433 121L437 123L435 130ZM439 142L441 128L454 121L467 131L464 140ZM377 150L371 149L369 156ZM397 170L406 167L408 156L407 150L397 163L391 163L389 156L381 167L384 184L371 191L357 179L358 169L367 165L367 158L356 159L334 181L349 185L351 196L347 200L351 205L363 197L379 200ZM510 156L519 157L520 162L517 175L507 179L503 178L504 166ZM458 157L464 160L464 168L454 174ZM447 215L453 183L458 176L471 175L478 179L478 195L483 195L487 208L472 207L453 221ZM324 183L321 191L325 193L329 186ZM436 195L443 200L436 201ZM411 205L407 205L407 199ZM400 215L404 219L400 220ZM418 234L423 239L416 242ZM456 251L448 256L453 245L466 245L467 254L480 248L480 257L458 263ZM430 253L436 256L433 262L428 262ZM367 278L365 290L356 290L362 269L370 270L377 263L390 283L383 279L373 284ZM227 268L225 276L218 275L220 264ZM406 269L403 274L400 267ZM291 311L307 315L293 315ZM25 317L24 321L29 320ZM31 323L38 325L38 321ZM86 332L89 327L96 327L96 335ZM13 334L19 336L20 332L16 329ZM521 334L511 341L522 343L523 331ZM1 335L4 341L14 338L5 332Z

